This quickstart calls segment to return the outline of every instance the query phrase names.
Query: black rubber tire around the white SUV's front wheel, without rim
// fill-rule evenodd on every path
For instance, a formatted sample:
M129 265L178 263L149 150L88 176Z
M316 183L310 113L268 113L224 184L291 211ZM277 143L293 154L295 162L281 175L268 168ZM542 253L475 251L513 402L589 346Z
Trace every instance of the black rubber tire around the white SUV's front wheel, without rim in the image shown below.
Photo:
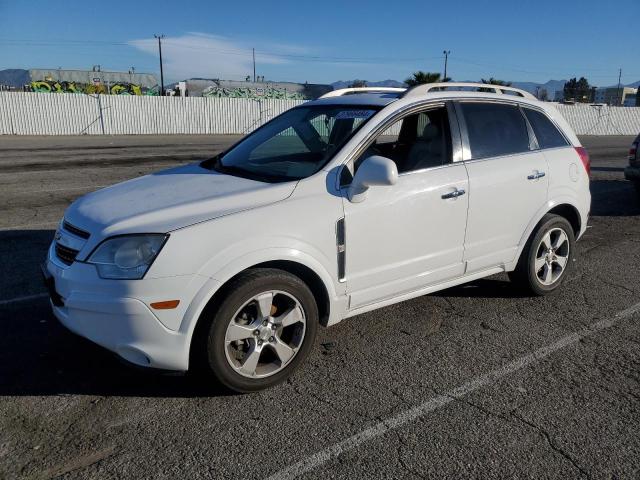
M296 350L295 356L277 373L261 378L248 378L238 373L227 359L225 334L236 312L254 296L265 291L278 290L294 297L301 306L305 316L304 336ZM203 336L199 342L199 357L204 362L208 373L213 375L222 385L238 393L250 393L272 387L287 379L306 359L313 348L318 331L318 307L309 287L298 277L283 270L274 268L256 268L248 270L233 279L223 292L224 298L205 309L201 321L205 322L199 329ZM275 328L275 327L274 327ZM247 343L255 339L247 339ZM196 339L196 344L197 339ZM266 345L268 346L268 345ZM254 345L255 347L255 345ZM260 357L262 358L262 357Z

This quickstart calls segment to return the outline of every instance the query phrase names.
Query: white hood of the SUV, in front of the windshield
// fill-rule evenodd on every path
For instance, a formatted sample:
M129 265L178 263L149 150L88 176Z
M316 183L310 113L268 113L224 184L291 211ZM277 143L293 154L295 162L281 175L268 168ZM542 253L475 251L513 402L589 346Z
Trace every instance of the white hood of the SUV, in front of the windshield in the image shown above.
M165 233L284 200L295 185L258 182L192 164L89 193L67 209L65 218L104 236Z

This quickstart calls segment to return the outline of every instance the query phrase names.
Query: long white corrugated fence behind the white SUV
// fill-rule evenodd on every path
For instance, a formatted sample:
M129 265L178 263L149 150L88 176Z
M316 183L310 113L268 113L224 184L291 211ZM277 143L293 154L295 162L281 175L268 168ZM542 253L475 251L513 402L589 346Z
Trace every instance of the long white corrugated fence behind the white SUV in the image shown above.
M0 135L247 133L301 100L0 92ZM578 135L637 135L640 107L557 105Z

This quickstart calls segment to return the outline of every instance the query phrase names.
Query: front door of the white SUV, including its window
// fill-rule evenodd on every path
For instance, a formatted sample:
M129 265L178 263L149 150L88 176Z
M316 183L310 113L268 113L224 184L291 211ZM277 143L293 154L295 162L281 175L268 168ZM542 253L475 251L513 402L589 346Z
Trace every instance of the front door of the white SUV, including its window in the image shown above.
M362 202L344 199L352 309L462 274L468 180L451 152L439 106L394 122L363 154L391 158L399 176L393 186L371 187Z

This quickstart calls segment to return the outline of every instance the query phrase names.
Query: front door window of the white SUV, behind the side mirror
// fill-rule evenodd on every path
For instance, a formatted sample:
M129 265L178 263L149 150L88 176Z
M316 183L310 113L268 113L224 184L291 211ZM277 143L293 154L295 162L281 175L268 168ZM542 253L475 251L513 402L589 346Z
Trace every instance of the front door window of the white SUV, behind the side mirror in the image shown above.
M390 158L398 173L412 172L451 162L451 131L445 107L408 115L380 133L356 160L355 169L371 155Z

